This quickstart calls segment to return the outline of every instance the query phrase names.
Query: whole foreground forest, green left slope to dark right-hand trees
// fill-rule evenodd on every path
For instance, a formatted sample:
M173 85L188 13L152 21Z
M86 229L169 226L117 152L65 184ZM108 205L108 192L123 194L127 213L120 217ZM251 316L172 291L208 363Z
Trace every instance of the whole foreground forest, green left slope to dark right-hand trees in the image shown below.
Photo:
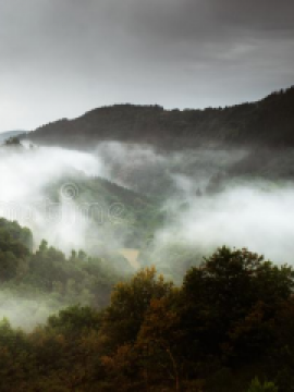
M30 330L2 320L1 391L292 391L291 267L221 247L175 285L46 242L33 253L29 230L0 225L1 289L60 305Z

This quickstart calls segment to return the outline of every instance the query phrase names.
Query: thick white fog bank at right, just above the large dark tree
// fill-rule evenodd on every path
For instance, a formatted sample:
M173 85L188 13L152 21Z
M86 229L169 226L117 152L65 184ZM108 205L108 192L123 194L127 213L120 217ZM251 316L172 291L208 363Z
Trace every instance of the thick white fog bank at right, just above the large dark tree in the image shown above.
M205 256L222 245L247 247L275 264L294 265L293 204L293 186L272 189L262 182L189 198L184 209L172 207L171 221L156 233L154 246L158 253L176 243Z

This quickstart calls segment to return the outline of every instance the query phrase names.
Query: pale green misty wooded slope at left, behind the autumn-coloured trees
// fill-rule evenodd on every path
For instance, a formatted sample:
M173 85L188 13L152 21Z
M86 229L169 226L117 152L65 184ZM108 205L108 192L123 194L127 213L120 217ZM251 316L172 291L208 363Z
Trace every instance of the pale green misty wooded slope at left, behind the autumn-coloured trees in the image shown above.
M30 230L0 219L1 313L12 315L16 324L30 328L76 303L101 308L127 272L132 269L117 254L98 258L73 249L66 257L46 241L33 250Z

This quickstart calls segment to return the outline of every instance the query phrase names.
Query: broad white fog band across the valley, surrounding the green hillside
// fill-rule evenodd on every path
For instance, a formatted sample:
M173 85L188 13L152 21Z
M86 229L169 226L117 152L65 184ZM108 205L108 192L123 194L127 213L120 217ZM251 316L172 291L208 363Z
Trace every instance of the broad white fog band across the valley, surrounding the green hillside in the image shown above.
M160 246L173 240L204 252L221 245L245 246L274 261L291 262L294 187L291 182L228 177L230 168L247 154L224 149L158 151L147 145L118 142L102 143L93 152L2 148L1 215L28 225L36 242L45 237L64 252L73 245L81 248L93 222L76 206L78 184L66 179L73 174L98 176L160 200L167 212L167 221L155 233ZM221 186L210 192L216 177ZM60 211L54 210L54 215L61 219L56 219L45 206L50 186L59 181Z

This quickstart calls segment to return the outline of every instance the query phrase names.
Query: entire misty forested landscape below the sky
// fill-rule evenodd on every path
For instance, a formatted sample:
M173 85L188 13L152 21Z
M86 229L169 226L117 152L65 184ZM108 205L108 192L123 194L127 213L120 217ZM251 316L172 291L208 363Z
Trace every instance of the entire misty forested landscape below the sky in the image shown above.
M293 107L2 134L0 391L292 391Z

